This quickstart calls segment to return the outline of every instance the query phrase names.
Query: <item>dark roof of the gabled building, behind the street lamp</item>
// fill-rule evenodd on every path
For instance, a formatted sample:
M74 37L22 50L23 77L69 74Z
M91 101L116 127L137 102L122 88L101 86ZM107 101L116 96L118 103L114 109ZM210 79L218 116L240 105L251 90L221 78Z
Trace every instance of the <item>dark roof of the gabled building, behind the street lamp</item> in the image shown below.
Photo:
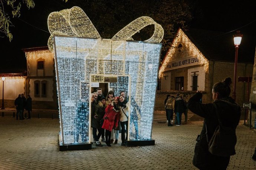
M223 33L190 28L184 31L184 33L208 60L234 62L234 32ZM246 37L242 38L238 50L238 62L254 62L255 42L249 41L248 39Z

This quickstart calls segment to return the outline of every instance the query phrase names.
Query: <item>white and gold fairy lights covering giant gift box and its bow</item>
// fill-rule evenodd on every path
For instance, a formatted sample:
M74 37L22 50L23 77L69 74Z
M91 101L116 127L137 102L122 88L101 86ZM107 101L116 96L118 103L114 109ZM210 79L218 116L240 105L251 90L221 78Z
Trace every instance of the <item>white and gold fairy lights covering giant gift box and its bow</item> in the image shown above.
M124 41L133 40L132 35L150 24L155 31L146 41L154 43ZM116 96L121 90L130 96L134 111L128 139L151 139L163 28L150 17L140 17L112 40L101 39L79 7L51 13L48 28L48 47L55 50L62 143L91 141L89 89L92 82L104 82L105 76L116 77L117 82L109 82Z

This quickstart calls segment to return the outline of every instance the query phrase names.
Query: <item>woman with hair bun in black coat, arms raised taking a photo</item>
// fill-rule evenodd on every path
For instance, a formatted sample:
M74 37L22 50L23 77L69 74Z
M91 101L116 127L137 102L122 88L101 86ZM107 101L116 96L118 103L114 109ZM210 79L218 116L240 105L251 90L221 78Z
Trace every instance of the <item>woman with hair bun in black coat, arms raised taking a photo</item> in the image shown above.
M229 97L231 78L226 78L223 82L217 82L213 85L213 100L223 126L230 128L235 132L240 120L241 109L237 103ZM204 118L203 128L200 137L197 139L193 164L200 170L225 170L229 165L230 156L216 156L211 154L208 149L210 141L216 127L219 125L216 115L216 109L213 103L202 104L200 99L202 93L197 92L192 96L187 107L191 112ZM206 131L207 128L207 131ZM207 132L207 135L206 135ZM236 143L236 137L233 143ZM232 148L235 154L234 147Z

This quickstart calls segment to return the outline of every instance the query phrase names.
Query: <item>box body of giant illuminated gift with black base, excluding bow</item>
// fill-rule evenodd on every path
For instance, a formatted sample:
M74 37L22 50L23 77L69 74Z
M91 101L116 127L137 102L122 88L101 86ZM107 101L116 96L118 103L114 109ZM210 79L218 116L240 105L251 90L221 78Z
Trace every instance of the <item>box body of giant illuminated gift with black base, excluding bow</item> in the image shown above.
M154 145L151 132L161 44L113 40L124 38L116 36L122 35L120 31L112 40L65 34L49 38L49 48L55 51L60 150L91 149L90 95L98 83L107 83L115 96L121 91L129 96L127 145Z

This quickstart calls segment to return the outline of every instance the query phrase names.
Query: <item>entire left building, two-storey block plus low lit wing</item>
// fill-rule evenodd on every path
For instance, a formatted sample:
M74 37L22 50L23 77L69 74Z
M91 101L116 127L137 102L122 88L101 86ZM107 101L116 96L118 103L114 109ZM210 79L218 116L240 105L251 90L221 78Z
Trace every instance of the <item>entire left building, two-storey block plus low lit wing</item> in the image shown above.
M30 95L33 109L57 110L54 54L48 47L23 49L26 55L26 71L1 73L0 96L4 93L4 108L15 109L14 100L19 94ZM0 100L2 103L3 99Z

